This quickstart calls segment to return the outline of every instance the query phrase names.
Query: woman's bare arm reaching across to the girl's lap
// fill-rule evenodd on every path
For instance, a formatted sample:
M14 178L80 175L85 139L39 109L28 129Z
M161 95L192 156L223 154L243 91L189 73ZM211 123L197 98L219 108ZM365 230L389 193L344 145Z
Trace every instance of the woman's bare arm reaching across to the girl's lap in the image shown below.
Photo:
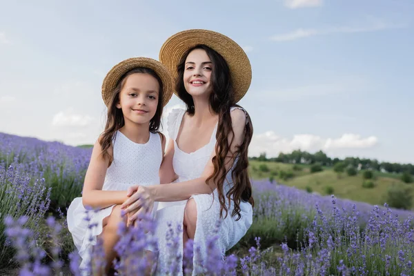
M228 137L228 141L231 144L229 155L225 160L226 170L229 170L231 166L233 166L235 161L233 152L236 152L237 146L242 144L244 138L244 126L246 125L246 115L243 110L235 109L230 112L230 116L235 137L233 142L231 142L233 135L230 134ZM172 185L154 185L148 187L132 186L128 188L127 195L130 196L130 198L121 205L121 208L125 208L126 212L136 210L140 206L135 203L139 197L143 196L150 201L180 201L189 199L192 195L213 193L217 184L214 179L211 179L208 184L206 184L206 180L210 175L213 175L214 166L212 159L214 156L215 151L211 154L210 160L199 178L174 183ZM126 208L127 206L128 208Z

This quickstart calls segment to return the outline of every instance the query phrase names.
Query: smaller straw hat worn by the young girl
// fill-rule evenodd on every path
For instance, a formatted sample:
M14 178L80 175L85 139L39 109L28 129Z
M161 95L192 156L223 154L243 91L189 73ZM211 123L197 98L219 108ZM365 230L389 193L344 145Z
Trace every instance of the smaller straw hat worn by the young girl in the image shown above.
M161 62L155 59L150 59L148 57L132 57L130 59L125 59L112 67L105 79L103 79L102 99L106 106L108 106L112 92L114 92L117 87L119 79L121 79L126 72L137 67L150 68L155 71L164 87L162 105L166 106L168 101L170 101L172 91L174 90L174 81L171 72Z

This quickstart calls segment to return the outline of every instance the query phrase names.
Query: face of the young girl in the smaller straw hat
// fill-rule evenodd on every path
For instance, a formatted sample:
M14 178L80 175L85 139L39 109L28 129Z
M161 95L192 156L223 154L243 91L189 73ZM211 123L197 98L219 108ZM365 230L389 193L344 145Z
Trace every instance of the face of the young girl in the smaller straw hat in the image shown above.
M117 108L122 110L125 121L149 124L157 112L159 83L149 74L129 75L119 92Z

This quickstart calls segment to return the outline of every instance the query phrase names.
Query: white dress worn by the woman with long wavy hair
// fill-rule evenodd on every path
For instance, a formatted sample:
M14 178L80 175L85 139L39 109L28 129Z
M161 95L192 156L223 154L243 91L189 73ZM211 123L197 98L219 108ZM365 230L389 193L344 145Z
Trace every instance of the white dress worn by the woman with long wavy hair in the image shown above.
M231 110L233 111L234 109L235 108L232 108ZM175 149L172 165L174 167L175 173L179 177L176 182L188 181L190 179L196 179L200 177L216 145L215 135L217 131L217 125L213 131L213 134L211 135L210 142L206 146L203 146L202 148L199 148L199 150L191 153L186 153L179 149L175 140L177 139L177 133L185 112L186 110L184 109L175 109L170 112L170 115L168 115L168 135L174 141ZM228 191L229 186L233 185L233 180L231 179L230 173L231 172L228 173L226 178L228 185L224 188L225 193ZM216 223L219 219L220 204L217 190L215 190L213 194L214 201L213 195L193 195L193 198L197 204L197 226L195 230L194 244L200 247L199 252L194 253L194 268L197 264L202 264L202 262L206 259L206 242L208 237L212 237L215 234ZM168 237L168 223L172 223L172 226L182 226L186 202L187 200L175 202L159 202L159 207L156 215L156 236L159 243L157 275L166 275L168 272L171 273L169 258L172 256L170 256L171 250L166 239L166 237ZM246 234L248 228L250 228L251 224L253 223L252 206L248 202L242 201L240 203L240 208L240 215L242 217L236 221L237 217L231 217L231 213L233 212L232 201L231 207L228 210L227 217L224 220L221 220L221 226L218 230L219 239L215 244L215 246L217 246L216 248L221 254L221 257L224 257L226 251L235 246L237 242L239 242L239 240ZM177 255L179 256L177 264L178 268L182 267L182 233L180 234L180 237L179 247L177 248L179 252L173 253L175 257L177 257ZM182 275L181 270L180 273L181 274L178 275ZM196 275L196 273L197 269L194 269L193 275Z

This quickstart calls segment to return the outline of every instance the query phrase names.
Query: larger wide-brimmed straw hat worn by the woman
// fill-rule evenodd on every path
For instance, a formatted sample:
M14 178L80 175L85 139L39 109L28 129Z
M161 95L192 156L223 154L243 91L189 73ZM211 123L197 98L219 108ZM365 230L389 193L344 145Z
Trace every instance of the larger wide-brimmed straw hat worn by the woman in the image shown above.
M159 61L172 72L172 77L177 79L177 65L180 59L188 49L198 44L212 48L227 61L235 88L235 103L237 103L250 86L252 68L242 47L224 34L200 29L177 32L164 42L159 51Z

